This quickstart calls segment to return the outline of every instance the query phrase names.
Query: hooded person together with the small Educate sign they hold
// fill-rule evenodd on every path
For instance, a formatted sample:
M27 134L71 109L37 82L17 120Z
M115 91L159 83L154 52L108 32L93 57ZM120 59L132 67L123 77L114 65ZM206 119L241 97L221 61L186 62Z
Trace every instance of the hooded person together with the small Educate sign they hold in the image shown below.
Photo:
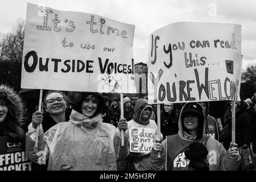
M129 130L130 153L119 163L122 170L127 170L123 163L133 163L136 171L150 170L150 151L156 139L157 126L154 120L150 119L152 107L147 100L141 98L135 102L134 116L127 122Z

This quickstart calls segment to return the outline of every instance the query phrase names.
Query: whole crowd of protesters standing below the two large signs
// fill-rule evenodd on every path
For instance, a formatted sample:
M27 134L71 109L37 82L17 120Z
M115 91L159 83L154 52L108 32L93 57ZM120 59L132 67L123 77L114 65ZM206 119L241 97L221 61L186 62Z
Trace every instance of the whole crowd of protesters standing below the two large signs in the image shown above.
M76 94L72 106L64 92L49 90L43 109L26 115L28 107L18 93L0 85L0 136L26 138L26 156L38 163L43 151L47 170L150 171L241 170L238 148L250 146L256 170L256 92L236 101L236 143L232 143L232 102L216 116L209 102L161 105L160 137L150 152L130 152L132 128L157 130L155 107L146 98L135 104L96 92ZM213 114L213 115L210 115ZM38 150L35 150L39 127ZM121 144L121 131L124 141ZM159 139L160 138L160 139Z

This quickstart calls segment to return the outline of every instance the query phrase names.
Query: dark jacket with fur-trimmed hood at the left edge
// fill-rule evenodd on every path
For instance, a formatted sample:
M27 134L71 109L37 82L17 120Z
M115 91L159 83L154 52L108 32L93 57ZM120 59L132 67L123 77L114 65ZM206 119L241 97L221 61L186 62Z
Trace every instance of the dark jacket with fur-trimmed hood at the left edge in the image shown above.
M24 121L24 104L13 90L13 88L0 85L0 100L5 101L8 107L8 113L5 120L0 123L0 136L9 136L15 140L23 140L25 137L22 125Z

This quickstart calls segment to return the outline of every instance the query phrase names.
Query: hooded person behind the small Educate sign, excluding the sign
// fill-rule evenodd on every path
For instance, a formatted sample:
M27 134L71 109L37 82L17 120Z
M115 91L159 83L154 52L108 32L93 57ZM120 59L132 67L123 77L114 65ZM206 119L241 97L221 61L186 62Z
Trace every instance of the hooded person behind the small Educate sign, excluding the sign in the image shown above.
M157 126L154 120L150 119L152 107L147 104L147 100L140 98L135 102L133 119L127 122L128 130L131 128L150 128L157 132ZM148 152L129 152L126 160L134 165L136 171L150 170L150 151ZM122 162L121 162L122 163ZM121 164L122 165L122 164Z

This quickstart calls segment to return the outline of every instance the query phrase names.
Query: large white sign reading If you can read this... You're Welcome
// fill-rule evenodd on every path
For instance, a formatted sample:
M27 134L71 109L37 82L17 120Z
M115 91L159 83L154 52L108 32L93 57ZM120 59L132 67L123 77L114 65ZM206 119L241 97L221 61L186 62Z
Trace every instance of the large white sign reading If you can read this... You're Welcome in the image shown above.
M241 25L169 24L150 35L148 101L240 100L241 67Z

